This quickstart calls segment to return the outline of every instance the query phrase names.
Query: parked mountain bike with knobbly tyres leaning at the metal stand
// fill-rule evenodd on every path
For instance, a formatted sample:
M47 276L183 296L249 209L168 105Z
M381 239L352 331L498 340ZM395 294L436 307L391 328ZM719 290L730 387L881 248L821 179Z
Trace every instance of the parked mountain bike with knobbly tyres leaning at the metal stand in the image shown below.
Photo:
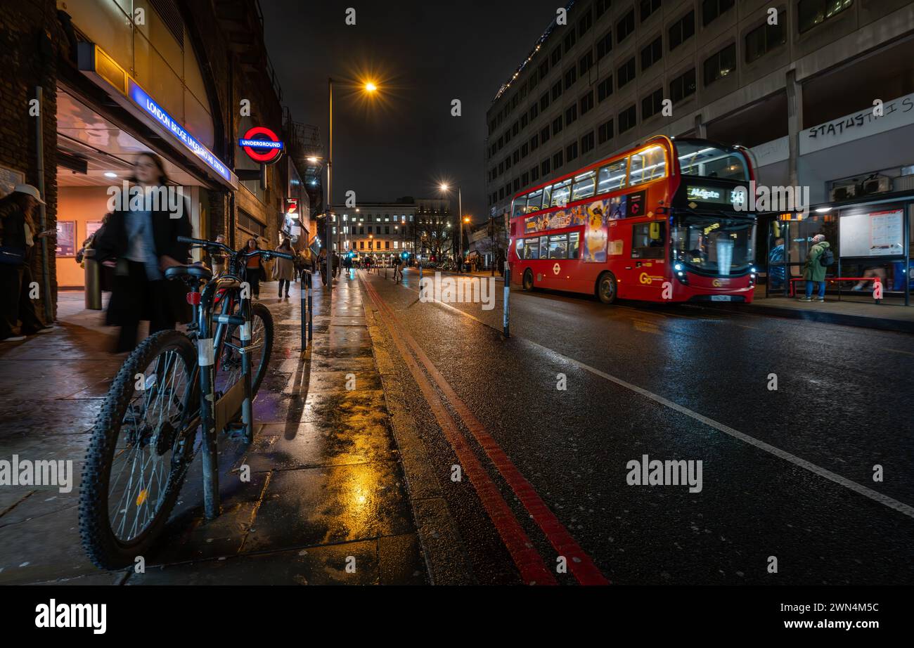
M228 271L214 277L202 264L165 271L166 280L189 287L193 320L186 333L143 340L101 405L82 473L80 536L102 569L132 565L154 546L201 449L205 513L217 517L218 435L253 441L252 402L270 363L273 320L266 306L251 303L247 260L292 255L178 240L225 252Z

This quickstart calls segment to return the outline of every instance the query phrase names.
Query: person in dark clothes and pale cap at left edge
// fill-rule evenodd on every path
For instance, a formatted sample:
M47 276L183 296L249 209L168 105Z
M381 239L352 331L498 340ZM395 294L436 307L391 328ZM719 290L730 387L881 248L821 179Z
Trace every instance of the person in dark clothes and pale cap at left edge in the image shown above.
M35 212L45 205L37 188L16 185L13 192L0 199L0 342L18 342L27 335L49 333L52 327L37 315L30 299L32 272L29 267L35 239L49 236L54 230L37 232ZM19 321L19 335L13 329Z

